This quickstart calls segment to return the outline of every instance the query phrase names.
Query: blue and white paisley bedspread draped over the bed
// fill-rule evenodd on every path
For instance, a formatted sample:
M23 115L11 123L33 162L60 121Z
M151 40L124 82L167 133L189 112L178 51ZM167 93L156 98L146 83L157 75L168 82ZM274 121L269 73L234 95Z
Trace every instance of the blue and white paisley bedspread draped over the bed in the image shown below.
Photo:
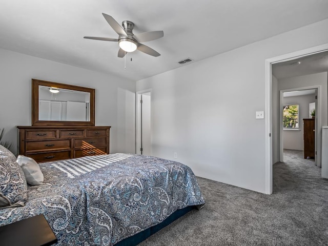
M173 212L204 204L192 170L178 162L110 154L40 163L44 185L24 207L0 209L0 226L44 214L56 245L114 245Z

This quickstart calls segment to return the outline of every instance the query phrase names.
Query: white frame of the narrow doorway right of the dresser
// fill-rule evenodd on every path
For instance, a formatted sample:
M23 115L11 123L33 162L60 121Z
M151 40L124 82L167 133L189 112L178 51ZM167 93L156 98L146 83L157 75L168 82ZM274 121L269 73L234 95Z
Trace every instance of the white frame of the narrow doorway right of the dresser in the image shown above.
M141 107L140 107L140 96L142 94L150 94L150 155L153 153L153 96L152 96L152 89L137 91L136 94L136 109L135 109L135 153L138 154L138 151L140 151L140 141L141 141L141 126L140 126L140 114L141 114Z

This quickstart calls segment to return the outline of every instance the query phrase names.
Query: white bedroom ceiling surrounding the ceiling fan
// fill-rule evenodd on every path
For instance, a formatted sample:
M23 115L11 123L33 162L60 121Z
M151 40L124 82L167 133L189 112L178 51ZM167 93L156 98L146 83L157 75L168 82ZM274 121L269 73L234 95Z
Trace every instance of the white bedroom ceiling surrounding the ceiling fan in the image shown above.
M117 38L101 13L135 34L163 30L145 43L161 56L135 51L124 70L117 43L83 38ZM139 80L325 18L323 0L0 0L0 48Z

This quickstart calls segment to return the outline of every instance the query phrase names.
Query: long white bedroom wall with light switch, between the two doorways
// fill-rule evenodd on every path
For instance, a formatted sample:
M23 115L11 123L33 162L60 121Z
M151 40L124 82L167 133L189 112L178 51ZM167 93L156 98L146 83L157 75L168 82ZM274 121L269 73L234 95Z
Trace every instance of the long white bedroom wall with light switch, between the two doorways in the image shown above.
M152 89L153 155L265 192L265 59L328 43L328 19L137 81ZM219 42L219 40L218 40ZM176 159L174 159L176 160Z

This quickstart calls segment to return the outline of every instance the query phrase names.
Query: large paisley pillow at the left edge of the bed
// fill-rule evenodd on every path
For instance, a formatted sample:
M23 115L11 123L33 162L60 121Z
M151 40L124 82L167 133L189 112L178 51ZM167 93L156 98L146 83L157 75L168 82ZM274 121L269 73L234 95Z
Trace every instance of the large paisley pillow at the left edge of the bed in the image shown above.
M16 157L0 145L0 208L24 206L27 183Z

